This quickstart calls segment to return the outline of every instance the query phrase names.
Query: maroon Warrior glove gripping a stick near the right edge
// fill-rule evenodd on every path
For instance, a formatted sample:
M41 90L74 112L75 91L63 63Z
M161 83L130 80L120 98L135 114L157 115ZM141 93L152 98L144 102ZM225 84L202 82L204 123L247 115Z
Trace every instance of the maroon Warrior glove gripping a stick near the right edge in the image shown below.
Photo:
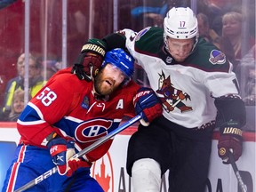
M230 121L220 127L220 139L218 143L218 154L223 164L230 164L228 153L231 151L235 161L242 156L242 130L237 122Z

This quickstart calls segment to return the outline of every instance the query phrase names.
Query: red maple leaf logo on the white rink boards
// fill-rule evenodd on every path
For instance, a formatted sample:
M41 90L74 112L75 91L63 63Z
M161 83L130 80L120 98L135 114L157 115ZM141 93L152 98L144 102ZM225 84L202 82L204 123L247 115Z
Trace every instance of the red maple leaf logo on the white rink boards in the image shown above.
M114 192L114 171L109 153L92 165L92 177L105 192Z

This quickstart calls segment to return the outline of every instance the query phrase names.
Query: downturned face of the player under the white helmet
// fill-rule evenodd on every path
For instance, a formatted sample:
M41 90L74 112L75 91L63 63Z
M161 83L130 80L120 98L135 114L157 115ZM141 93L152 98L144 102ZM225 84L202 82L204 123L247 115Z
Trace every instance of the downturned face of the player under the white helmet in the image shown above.
M167 44L169 52L172 55L173 59L182 62L192 51L194 46L194 38L191 39L173 39L171 37L167 38Z

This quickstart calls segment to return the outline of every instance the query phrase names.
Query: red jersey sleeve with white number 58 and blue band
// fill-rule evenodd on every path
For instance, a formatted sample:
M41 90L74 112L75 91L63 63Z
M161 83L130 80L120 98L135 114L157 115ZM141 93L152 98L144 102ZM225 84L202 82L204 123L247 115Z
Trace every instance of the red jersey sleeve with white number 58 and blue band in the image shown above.
M63 69L52 76L20 115L17 124L20 141L44 146L44 139L54 131L52 124L76 108L84 84L89 83L80 81L69 69Z

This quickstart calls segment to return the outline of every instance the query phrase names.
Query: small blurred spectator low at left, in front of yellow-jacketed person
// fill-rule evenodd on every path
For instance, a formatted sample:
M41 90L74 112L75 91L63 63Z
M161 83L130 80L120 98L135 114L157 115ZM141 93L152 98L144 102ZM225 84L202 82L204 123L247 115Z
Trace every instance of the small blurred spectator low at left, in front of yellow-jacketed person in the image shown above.
M24 90L17 89L13 93L12 98L12 106L11 106L11 113L9 114L7 121L14 121L16 122L18 120L18 117L20 116L20 113L25 107L24 103ZM30 100L30 98L29 98Z

